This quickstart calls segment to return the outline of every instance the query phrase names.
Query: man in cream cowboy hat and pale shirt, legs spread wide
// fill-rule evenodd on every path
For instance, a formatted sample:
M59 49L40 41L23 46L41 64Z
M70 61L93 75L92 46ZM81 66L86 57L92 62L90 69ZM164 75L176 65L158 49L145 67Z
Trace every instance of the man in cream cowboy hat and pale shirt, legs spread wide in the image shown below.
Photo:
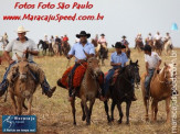
M24 57L24 55L29 53L28 60L33 67L33 70L35 71L35 74L33 72L32 74L34 76L38 76L36 79L41 83L43 93L45 93L49 98L51 98L56 87L50 88L50 85L45 79L44 71L33 62L33 55L36 56L39 54L39 49L35 43L25 36L27 32L28 31L25 31L23 26L19 26L18 27L19 37L17 40L13 40L6 47L3 55L9 62L9 67L3 76L2 82L0 83L0 97L4 94L9 85L13 82L12 79L17 78L18 72L11 76L12 79L7 78L8 75L10 74L11 68L14 67L14 65L17 65L18 63L18 57L15 54L18 54L20 57ZM12 58L10 57L10 52L12 52Z

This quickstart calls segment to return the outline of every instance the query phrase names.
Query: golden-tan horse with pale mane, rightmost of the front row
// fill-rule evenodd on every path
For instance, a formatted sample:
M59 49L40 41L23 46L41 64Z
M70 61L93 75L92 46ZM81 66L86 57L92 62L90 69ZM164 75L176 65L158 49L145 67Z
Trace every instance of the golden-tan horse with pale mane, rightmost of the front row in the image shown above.
M171 86L172 86L172 74L171 74L172 66L165 64L163 68L157 74L152 76L150 82L150 90L149 96L152 100L151 102L151 121L157 121L157 113L158 113L158 102L165 100L166 101L166 111L167 111L167 122L170 121L170 99L171 99ZM149 98L146 98L146 89L145 89L145 78L146 74L141 75L141 91L144 98L144 104L146 109L146 121L149 120L148 110L149 110Z

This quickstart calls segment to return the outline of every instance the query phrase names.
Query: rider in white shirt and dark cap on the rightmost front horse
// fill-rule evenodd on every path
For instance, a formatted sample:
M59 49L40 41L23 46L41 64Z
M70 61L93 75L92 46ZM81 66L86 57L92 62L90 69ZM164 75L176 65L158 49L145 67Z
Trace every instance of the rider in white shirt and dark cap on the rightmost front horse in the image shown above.
M161 64L161 58L156 52L151 52L150 45L145 45L145 63L146 63L146 79L145 79L145 89L146 98L149 98L150 81L153 76L155 70L159 71L159 66Z

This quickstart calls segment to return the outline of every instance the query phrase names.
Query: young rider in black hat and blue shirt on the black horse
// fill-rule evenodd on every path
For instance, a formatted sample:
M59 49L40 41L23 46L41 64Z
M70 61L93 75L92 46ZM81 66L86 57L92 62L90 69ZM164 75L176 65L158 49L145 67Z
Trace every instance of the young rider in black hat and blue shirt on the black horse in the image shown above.
M113 47L116 48L116 52L114 52L110 57L110 65L113 66L113 68L109 69L107 76L105 77L105 87L104 87L105 97L107 97L110 79L115 75L115 71L120 70L123 67L126 66L126 63L128 62L126 54L121 52L121 48L125 48L125 45L123 45L120 42L117 42ZM137 99L134 96L131 100L135 101Z

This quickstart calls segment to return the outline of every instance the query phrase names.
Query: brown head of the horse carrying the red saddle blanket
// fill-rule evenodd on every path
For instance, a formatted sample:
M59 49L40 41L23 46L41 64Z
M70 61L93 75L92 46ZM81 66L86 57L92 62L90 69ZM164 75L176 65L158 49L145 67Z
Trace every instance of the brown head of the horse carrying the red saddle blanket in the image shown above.
M87 60L87 69L91 70L95 76L100 75L102 70L99 67L99 60L95 57L91 57Z

